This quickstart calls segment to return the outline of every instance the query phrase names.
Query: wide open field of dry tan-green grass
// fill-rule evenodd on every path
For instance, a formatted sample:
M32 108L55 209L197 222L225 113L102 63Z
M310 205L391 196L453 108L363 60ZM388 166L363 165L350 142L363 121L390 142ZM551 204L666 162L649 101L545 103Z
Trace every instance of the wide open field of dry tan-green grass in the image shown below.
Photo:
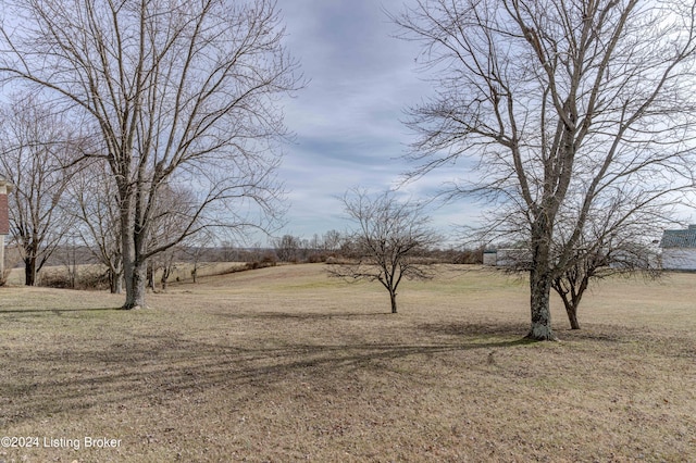
M406 281L391 315L323 271L207 277L134 312L0 288L0 435L39 438L0 462L696 461L696 275L604 281L581 331L555 301L562 342L530 343L519 279Z

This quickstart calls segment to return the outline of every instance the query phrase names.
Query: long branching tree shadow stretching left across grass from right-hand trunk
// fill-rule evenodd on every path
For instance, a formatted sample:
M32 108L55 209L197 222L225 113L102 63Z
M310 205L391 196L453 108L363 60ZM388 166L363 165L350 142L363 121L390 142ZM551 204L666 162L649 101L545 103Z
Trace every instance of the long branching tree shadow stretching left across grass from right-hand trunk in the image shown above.
M263 339L259 341L263 343ZM96 345L89 346L90 342ZM426 364L434 355L448 352L525 342L455 338L423 343L298 342L256 347L249 341L244 346L221 345L170 333L137 336L117 343L85 343L74 348L41 343L13 352L0 381L4 403L0 426L7 428L60 413L79 416L80 412L104 405L142 401L157 405L209 390L256 397L275 385L287 387L298 377L339 384L352 380L357 372L382 376L393 362L409 356L421 356L421 363ZM423 367L414 374L427 376L430 371ZM410 380L408 375L403 380Z

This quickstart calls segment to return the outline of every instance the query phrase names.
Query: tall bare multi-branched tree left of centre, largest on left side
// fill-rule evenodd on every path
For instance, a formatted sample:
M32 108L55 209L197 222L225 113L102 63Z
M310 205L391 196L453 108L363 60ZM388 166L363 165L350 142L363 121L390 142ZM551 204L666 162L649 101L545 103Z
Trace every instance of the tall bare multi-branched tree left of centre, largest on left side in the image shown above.
M201 227L266 228L282 185L279 98L301 86L272 0L7 1L0 73L98 127L116 187L125 309L146 263ZM16 18L22 18L17 21ZM165 183L196 191L178 236L150 247Z

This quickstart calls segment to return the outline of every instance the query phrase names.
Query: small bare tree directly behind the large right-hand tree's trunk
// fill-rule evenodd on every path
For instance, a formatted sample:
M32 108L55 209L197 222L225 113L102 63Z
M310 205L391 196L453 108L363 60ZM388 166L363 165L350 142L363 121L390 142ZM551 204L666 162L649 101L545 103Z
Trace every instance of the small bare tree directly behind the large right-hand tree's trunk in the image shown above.
M669 218L671 205L651 197L652 204L636 203L632 195L617 193L610 202L593 208L579 236L577 211L566 205L558 215L550 246L550 261L556 268L551 289L563 302L571 329L580 329L580 303L594 281L612 276L643 276L650 280L662 274L654 241L673 224ZM495 224L495 230L477 230L474 239L482 235L505 236L512 241L506 246L512 252L506 252L498 264L506 272L529 273L533 267L529 233L524 232L525 218L519 215L520 211L508 211L505 224Z

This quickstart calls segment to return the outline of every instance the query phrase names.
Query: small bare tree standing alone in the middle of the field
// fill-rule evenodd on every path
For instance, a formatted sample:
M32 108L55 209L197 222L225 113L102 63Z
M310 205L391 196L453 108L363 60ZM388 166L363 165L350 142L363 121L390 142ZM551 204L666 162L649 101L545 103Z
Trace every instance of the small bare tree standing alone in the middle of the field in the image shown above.
M389 291L391 313L397 313L397 289L402 278L428 279L432 265L423 253L440 240L430 228L421 204L399 202L393 191L370 196L351 190L343 198L356 223L350 234L349 262L332 265L331 276L348 280L380 281Z

